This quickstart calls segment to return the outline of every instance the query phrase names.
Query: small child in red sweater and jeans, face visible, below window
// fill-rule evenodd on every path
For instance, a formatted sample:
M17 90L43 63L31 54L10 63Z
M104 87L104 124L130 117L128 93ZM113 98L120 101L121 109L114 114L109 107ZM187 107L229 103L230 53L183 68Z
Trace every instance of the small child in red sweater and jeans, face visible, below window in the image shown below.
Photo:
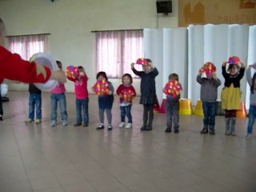
M121 111L121 123L119 127L125 126L126 116L128 118L128 123L126 128L131 128L133 125L132 116L130 113L132 106L132 98L136 96L136 91L134 86L132 86L133 78L130 74L122 75L122 84L118 86L117 94L120 95L120 111Z

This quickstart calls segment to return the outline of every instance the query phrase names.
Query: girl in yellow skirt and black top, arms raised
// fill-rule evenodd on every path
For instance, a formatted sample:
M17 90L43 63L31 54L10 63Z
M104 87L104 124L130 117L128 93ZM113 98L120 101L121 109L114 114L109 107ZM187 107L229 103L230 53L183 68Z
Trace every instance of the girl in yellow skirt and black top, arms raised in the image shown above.
M245 65L230 64L228 66L229 74L226 72L226 64L223 62L222 75L225 78L224 88L222 90L222 109L225 109L226 135L235 136L235 122L237 110L241 109L240 80L245 73Z

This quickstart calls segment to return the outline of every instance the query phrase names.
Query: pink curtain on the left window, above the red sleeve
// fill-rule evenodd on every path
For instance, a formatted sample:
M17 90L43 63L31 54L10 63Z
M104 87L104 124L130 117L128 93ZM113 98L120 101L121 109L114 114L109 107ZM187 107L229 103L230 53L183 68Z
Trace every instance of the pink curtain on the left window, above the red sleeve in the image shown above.
M10 51L29 60L33 54L47 51L47 35L15 36L8 38Z

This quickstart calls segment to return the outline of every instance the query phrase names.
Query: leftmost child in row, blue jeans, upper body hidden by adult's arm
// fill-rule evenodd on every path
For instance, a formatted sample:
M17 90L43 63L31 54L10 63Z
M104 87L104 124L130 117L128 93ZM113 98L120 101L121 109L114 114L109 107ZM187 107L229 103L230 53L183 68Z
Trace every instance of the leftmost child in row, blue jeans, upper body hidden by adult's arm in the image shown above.
M30 91L30 110L29 110L29 118L26 122L34 122L34 108L36 109L36 124L40 124L42 122L42 92L38 90L33 83L29 85Z

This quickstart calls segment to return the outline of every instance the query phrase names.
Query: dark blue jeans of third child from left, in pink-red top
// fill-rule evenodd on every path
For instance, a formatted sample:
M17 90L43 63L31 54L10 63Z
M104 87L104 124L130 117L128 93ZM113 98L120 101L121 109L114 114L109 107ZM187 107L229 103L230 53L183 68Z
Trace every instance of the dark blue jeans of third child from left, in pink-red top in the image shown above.
M88 114L88 103L89 98L76 99L76 107L77 107L77 122L82 123L82 110L83 110L83 120L85 123L89 122L89 114Z

